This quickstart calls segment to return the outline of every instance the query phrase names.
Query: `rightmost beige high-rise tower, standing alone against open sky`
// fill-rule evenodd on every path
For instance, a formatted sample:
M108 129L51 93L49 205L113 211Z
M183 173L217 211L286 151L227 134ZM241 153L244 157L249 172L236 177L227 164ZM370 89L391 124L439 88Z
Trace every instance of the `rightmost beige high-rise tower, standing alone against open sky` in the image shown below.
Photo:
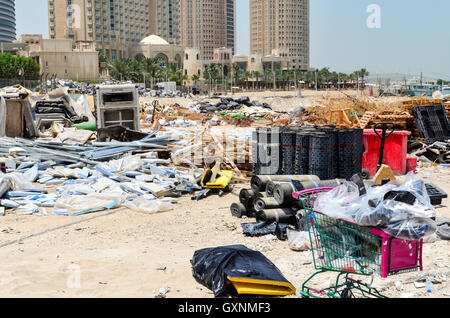
M250 0L250 51L310 66L310 0Z

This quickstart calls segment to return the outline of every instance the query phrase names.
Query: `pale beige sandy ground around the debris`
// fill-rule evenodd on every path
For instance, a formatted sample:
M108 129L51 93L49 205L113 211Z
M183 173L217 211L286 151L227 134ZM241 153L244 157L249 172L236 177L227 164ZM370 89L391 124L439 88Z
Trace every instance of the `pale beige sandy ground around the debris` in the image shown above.
M265 101L276 95L270 104L275 109L290 110L305 100L294 97L296 94L296 91L265 92L251 96L252 100ZM306 98L316 99L324 94L342 95L303 92ZM250 94L234 96L244 95ZM291 97L286 98L288 95ZM161 103L165 102L183 105L189 100L161 99ZM425 168L419 176L450 193L450 170ZM174 210L153 215L119 209L112 214L99 212L79 217L1 217L0 297L152 298L163 288L170 298L212 298L213 293L193 278L190 260L198 249L231 244L261 251L301 289L315 272L311 252L292 251L288 242L273 236L244 236L241 223L253 219L234 218L229 209L233 202L238 202L239 190L236 187L224 197L213 195L198 202L186 196L179 199ZM438 216L450 217L449 202L444 200L444 205L437 208ZM376 278L374 285L390 297L400 297L402 293L449 297L448 281L435 285L436 291L431 295L424 288L416 288L412 281L424 273L450 278L450 242L426 243L423 260L423 273ZM321 287L327 280L333 280L333 275L325 275L314 284ZM403 283L402 291L394 287L396 281Z

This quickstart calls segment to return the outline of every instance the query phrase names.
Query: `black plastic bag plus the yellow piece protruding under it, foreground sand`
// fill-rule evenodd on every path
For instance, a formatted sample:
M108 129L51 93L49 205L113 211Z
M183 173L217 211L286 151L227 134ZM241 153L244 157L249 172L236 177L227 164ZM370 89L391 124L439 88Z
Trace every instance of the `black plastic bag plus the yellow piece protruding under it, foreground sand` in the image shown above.
M243 245L198 250L191 264L195 279L212 290L215 297L236 290L253 295L295 293L294 286L270 260Z

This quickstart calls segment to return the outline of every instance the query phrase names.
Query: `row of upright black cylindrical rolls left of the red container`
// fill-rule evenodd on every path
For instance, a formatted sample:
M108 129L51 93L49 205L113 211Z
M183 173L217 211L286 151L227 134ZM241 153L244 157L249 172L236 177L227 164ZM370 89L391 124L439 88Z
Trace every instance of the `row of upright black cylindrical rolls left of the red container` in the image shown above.
M258 128L253 134L253 174L349 180L362 170L363 138L362 129L335 126Z

